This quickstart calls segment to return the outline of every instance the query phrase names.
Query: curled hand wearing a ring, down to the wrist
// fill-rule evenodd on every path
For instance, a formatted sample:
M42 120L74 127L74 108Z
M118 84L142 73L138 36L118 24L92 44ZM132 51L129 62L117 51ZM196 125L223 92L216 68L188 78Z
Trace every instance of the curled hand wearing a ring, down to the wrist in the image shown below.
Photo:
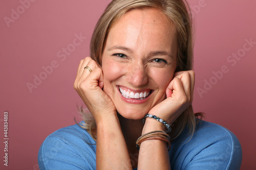
M90 67L92 72L87 68ZM109 96L102 90L104 77L101 67L91 57L80 61L74 89L92 113L95 121L104 114L115 113L116 108Z

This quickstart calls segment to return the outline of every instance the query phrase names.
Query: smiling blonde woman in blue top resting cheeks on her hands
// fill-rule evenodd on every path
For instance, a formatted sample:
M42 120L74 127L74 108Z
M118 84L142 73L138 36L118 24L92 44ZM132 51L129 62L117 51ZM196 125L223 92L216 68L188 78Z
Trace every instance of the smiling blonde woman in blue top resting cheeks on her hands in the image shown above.
M51 134L40 169L240 168L236 136L193 113L187 7L181 0L110 3L74 83L93 117L83 113L85 124Z

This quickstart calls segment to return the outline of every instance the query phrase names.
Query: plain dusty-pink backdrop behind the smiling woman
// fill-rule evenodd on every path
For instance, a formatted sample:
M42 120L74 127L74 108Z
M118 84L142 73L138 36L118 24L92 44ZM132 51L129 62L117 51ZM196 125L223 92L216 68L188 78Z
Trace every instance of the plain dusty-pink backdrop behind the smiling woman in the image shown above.
M73 89L77 66L89 56L96 21L109 3L31 1L0 3L1 169L38 169L42 141L55 130L73 125L74 117L79 120L76 106L82 101ZM256 42L256 2L188 2L196 27L194 109L204 112L209 122L231 130L242 144L241 169L255 169L256 44L245 43L246 39ZM75 35L83 38L76 40ZM62 48L68 48L67 54ZM241 57L234 59L233 53ZM34 76L44 80L37 80L29 90L27 83L34 84ZM3 162L5 111L9 112L8 167Z

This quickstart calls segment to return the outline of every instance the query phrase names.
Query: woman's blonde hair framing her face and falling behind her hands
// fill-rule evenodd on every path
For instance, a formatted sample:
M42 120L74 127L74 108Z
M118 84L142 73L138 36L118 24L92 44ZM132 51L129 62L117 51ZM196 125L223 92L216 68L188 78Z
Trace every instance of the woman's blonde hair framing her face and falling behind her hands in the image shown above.
M156 8L162 11L172 21L176 28L178 53L176 71L191 70L193 68L193 26L191 13L186 0L113 0L101 15L95 27L90 52L91 57L101 64L101 56L106 37L118 19L127 11L133 9ZM95 120L88 111L80 110L86 125L83 127L96 139L93 131L96 130ZM175 130L170 134L176 138L187 126L193 134L196 127L195 116L190 105L175 121Z

